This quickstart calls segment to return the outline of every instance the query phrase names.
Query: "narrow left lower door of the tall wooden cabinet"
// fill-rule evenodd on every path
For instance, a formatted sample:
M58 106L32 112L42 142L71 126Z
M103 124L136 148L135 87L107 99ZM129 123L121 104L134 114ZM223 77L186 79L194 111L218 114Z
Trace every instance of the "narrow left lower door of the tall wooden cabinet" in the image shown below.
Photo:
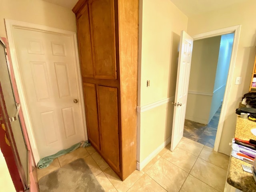
M83 85L88 139L98 150L100 150L96 86L90 83L83 83Z

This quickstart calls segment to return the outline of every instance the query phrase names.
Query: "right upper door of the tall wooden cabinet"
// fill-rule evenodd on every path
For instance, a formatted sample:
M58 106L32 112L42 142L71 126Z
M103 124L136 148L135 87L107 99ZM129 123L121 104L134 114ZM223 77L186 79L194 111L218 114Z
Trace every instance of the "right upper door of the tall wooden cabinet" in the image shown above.
M116 79L114 0L89 0L94 78Z

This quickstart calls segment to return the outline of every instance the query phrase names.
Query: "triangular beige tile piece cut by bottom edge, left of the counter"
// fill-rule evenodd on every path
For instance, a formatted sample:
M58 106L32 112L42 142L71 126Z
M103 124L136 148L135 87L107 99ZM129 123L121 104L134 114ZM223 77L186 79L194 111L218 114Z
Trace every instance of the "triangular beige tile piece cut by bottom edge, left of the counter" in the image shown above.
M183 184L180 192L218 192L216 189L208 186L204 182L195 178L192 175L188 175L185 183Z

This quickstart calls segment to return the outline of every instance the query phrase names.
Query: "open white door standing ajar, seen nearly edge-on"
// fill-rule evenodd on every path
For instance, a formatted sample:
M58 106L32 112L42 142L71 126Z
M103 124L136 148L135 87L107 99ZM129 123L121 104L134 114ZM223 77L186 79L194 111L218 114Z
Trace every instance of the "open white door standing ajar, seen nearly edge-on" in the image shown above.
M173 102L174 114L172 124L171 151L175 149L183 136L192 48L193 38L190 37L185 31L182 31L180 34L180 52L178 60L175 101Z

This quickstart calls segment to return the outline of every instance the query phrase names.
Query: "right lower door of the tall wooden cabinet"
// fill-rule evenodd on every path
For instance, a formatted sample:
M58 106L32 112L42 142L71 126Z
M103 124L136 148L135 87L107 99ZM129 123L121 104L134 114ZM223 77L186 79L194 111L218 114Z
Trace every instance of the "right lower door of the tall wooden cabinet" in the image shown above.
M120 171L117 88L97 86L101 152Z

